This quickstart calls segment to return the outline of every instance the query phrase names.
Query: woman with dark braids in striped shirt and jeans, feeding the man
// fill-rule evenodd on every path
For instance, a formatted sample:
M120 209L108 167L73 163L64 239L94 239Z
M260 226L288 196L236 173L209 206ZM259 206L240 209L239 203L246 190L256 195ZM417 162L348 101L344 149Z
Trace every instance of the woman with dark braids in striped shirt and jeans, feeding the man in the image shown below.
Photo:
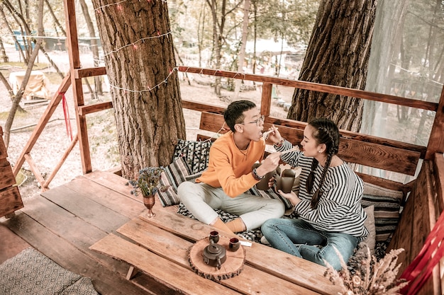
M292 148L276 127L268 139L277 151ZM266 241L289 254L340 270L340 258L347 263L357 243L368 231L361 206L362 180L336 154L339 130L331 120L315 119L304 129L302 151L281 156L282 161L302 168L299 195L279 193L289 199L296 219L269 219L262 224ZM270 183L271 185L271 183ZM335 250L336 249L336 250Z

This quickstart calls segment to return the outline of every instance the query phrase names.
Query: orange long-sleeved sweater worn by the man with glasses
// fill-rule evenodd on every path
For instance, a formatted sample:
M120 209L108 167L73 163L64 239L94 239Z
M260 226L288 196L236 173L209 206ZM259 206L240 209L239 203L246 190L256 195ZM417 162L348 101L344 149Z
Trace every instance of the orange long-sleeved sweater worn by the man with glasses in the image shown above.
M222 187L226 195L236 197L258 183L253 178L252 165L262 161L265 141L251 141L246 151L234 143L233 132L227 132L214 141L210 149L208 169L196 182Z

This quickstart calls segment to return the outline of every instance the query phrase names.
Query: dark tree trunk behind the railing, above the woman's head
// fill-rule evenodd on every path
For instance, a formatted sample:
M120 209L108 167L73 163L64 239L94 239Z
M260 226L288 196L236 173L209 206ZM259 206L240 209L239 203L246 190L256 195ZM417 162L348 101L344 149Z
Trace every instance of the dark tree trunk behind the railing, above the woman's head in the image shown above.
M377 0L322 0L299 80L365 88ZM328 117L359 131L362 100L296 89L288 118Z

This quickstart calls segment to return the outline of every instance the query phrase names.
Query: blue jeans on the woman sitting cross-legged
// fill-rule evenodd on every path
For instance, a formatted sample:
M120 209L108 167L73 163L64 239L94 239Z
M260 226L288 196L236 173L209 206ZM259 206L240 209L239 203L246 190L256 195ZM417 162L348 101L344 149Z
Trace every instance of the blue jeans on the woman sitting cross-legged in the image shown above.
M347 233L314 229L302 219L269 219L261 230L273 248L319 265L326 266L328 262L335 270L342 268L338 253L347 264L358 242L358 238Z

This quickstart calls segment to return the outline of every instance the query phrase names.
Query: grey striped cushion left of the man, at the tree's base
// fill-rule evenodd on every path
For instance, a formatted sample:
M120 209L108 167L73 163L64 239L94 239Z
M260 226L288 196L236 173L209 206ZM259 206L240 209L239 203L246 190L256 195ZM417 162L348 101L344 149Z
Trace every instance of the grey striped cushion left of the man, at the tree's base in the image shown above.
M187 161L182 157L177 158L165 168L160 178L160 185L163 188L157 191L163 207L180 203L179 197L177 197L177 187L187 180L189 175Z

